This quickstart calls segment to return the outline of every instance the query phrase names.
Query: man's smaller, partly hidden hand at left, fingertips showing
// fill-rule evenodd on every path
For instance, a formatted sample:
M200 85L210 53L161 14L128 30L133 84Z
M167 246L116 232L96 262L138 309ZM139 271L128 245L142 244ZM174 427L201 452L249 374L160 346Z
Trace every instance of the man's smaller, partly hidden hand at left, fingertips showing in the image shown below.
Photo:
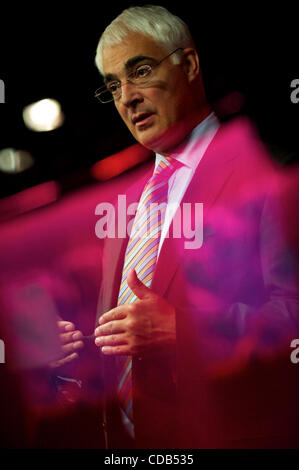
M64 366L78 357L78 350L84 345L80 341L83 334L79 330L75 330L75 325L69 321L58 320L59 337L61 341L61 349L64 354L62 359L50 363L50 367L56 368Z

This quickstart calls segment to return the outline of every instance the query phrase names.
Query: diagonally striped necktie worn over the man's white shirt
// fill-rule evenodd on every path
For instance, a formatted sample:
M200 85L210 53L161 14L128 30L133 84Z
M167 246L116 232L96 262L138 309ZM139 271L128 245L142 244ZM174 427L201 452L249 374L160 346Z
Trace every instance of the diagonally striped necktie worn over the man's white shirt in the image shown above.
M178 162L171 157L166 157L166 161L161 160L144 187L126 249L118 305L132 303L137 299L127 284L127 274L131 269L135 269L138 278L147 287L151 285L167 205L168 181L177 166ZM132 426L131 356L118 356L117 363L120 406ZM126 422L128 424L127 419Z

